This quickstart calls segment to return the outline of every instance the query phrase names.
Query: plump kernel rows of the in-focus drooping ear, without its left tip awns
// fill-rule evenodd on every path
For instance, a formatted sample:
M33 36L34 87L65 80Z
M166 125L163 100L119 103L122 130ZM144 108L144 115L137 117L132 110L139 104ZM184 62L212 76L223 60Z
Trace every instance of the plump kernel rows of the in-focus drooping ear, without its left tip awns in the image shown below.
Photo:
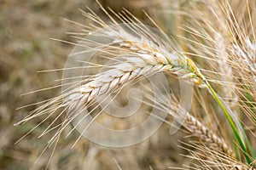
M102 9L105 11L104 8ZM119 51L119 54L125 54L125 56L119 57L116 54L117 59L125 59L125 62L112 65L108 67L110 68L108 71L100 72L93 78L85 80L84 85L73 90L64 105L73 106L78 101L86 104L95 99L96 96L110 92L114 88L131 82L131 80L159 71L177 74L183 78L191 78L197 85L205 87L206 79L191 59L182 53L178 53L170 44L164 42L159 35L138 23L136 18L129 15L130 13L116 14L119 20L123 22L125 29L122 26L115 25L117 22L108 13L113 23L105 23L96 14L85 12L83 14L100 25L100 27L87 28L87 32L95 31L96 28L99 30L104 28L98 34L113 39L113 42L109 43L107 48L101 50L112 54ZM130 23L125 23L128 21ZM167 39L167 42L172 41ZM87 48L97 46L104 46L104 44L86 42Z

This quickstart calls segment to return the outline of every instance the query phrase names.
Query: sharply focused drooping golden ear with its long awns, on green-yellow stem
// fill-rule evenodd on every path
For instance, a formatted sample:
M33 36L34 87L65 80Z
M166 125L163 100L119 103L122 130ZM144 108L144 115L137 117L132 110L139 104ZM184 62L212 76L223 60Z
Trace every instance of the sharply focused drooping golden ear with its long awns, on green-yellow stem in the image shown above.
M166 71L168 73L177 74L183 78L190 78L199 86L205 86L205 78L201 75L201 71L199 71L191 59L170 46L170 44L172 44L171 40L166 38L164 41L159 35L148 29L148 27L141 25L136 19L132 19L131 15L126 14L125 17L121 14L119 15L119 20L124 22L125 20L130 20L131 22L130 24L123 23L125 29L122 26L116 25L116 21L113 20L110 15L110 19L113 20L111 24L105 23L98 18L96 14L84 13L84 15L91 20L95 20L96 23L100 25L85 26L86 32L89 32L91 35L96 31L96 36L107 37L112 41L106 46L106 44L102 42L95 42L90 39L84 40L84 38L77 37L79 41L83 40L83 43L73 44L87 49L99 50L108 56L111 54L115 58L108 57L108 59L113 60L115 63L113 65L102 65L103 68L107 68L107 71L101 71L96 75L76 82L77 85L79 85L78 88L68 89L68 91L65 91L65 93L60 96L47 101L36 111L32 111L30 116L26 116L25 119L19 122L26 122L34 117L46 114L52 116L56 111L52 108L64 106L65 110L73 110L72 114L67 116L67 120L61 122L60 125L52 127L54 126L54 122L56 122L55 119L54 122L44 130L42 135L59 127L58 132L50 139L49 143L55 141L57 135L60 134L82 110L86 109L90 105L90 102L95 101L96 97L112 92L114 89L120 88L132 80L143 78L144 76L159 71ZM163 35L163 37L165 37L165 35ZM99 49L98 47L101 48ZM101 57L104 58L103 55ZM82 109L79 110L78 106L82 106ZM61 114L63 114L63 112L61 112ZM48 119L49 116L47 116L44 121ZM40 122L38 126L44 121Z

